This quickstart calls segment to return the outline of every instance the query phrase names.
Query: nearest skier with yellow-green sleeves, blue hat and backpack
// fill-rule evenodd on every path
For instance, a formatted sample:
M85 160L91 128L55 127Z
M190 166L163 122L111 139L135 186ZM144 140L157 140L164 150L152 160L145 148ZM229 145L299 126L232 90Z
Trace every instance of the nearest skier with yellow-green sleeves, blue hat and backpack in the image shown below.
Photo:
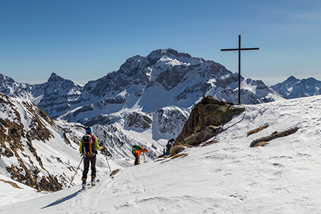
M98 150L105 148L104 145L99 146L98 140L93 136L93 131L90 127L86 127L86 134L81 138L79 152L83 155L83 177L81 180L82 187L85 188L89 163L91 164L91 185L95 185L96 178L96 154Z

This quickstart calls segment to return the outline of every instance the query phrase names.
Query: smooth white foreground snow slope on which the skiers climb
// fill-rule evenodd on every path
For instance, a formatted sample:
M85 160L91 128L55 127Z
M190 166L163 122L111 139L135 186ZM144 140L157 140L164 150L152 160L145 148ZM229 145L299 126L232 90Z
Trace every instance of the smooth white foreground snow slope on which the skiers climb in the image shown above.
M320 213L320 103L321 96L313 96L245 105L215 137L218 143L188 148L184 158L123 168L114 180L101 174L101 183L83 193L78 185L3 203L0 213ZM269 127L247 137L264 125ZM249 147L293 127L300 129Z

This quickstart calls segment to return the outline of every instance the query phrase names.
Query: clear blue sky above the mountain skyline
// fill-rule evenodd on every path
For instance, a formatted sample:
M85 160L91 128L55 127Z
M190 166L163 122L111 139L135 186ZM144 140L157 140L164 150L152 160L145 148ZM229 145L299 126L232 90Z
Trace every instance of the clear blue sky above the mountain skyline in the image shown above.
M1 0L0 73L44 83L52 72L86 83L127 58L171 48L269 86L321 80L321 1Z

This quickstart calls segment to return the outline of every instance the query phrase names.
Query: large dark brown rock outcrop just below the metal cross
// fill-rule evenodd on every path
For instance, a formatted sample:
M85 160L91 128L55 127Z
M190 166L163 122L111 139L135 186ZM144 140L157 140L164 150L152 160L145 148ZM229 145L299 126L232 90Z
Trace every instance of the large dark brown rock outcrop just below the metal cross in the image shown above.
M221 126L224 123L232 120L233 116L236 116L245 111L245 108L236 108L231 106L230 103L220 101L213 96L203 97L200 103L196 104L190 113L188 121L186 121L183 131L176 138L175 145L187 143L186 138L189 138L193 133L198 133L203 130L207 133L215 134L208 126ZM208 138L205 137L205 138ZM211 138L211 137L210 137ZM209 138L208 138L209 139ZM198 145L203 142L203 137L198 136L195 141L188 140L190 145Z

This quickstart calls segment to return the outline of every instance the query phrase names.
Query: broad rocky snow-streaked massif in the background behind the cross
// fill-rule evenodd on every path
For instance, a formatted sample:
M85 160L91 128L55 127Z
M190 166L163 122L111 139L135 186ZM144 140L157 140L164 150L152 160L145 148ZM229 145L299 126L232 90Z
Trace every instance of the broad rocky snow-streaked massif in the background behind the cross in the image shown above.
M152 113L167 106L190 108L203 93L238 103L238 74L220 63L173 49L128 58L118 71L81 86L52 73L49 81L31 86L0 76L0 92L29 98L49 116L85 122L102 114L130 111ZM280 96L262 81L242 78L242 102L263 103Z

